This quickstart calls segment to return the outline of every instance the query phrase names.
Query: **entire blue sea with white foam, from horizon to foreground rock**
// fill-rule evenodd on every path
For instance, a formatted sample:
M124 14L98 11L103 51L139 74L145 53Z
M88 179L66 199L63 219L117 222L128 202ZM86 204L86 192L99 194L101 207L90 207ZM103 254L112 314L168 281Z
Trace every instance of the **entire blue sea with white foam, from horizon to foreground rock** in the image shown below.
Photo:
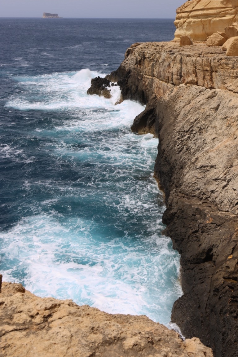
M137 102L88 96L173 20L0 19L0 272L45 297L164 324L182 294Z

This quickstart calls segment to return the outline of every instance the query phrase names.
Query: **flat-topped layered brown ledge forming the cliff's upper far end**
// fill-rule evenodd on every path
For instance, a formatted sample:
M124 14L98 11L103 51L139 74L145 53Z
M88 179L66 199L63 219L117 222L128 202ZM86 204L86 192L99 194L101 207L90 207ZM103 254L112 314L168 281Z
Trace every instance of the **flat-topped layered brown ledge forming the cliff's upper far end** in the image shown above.
M237 74L238 58L227 57L222 47L181 47L171 41L132 45L122 65L106 78L118 81L124 99L147 104L154 95L162 96L180 84L226 89Z

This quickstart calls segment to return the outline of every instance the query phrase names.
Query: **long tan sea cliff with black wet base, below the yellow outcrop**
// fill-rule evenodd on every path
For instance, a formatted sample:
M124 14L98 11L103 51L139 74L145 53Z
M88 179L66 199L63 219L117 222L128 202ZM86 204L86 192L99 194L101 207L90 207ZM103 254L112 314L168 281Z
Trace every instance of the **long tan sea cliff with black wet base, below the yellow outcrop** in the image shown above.
M184 293L172 321L216 357L237 357L238 58L206 44L134 44L107 78L146 104L133 131L159 138L155 177Z

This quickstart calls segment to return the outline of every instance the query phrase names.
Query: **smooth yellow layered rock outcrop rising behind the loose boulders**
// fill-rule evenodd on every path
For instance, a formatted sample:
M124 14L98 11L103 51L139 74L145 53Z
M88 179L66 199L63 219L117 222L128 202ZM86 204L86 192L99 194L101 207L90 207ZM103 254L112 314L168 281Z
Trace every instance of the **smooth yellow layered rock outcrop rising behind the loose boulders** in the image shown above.
M177 9L174 21L175 40L188 35L192 40L206 41L217 31L224 31L238 20L237 0L192 0Z

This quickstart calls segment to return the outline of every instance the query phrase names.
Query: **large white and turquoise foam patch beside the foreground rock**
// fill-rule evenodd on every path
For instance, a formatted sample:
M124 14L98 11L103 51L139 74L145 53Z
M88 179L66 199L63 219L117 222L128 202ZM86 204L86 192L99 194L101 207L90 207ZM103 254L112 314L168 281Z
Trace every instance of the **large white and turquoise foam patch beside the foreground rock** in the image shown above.
M159 240L161 252L154 255L153 241L136 249L129 240L102 239L95 245L91 224L76 220L62 225L41 215L0 233L5 242L1 253L13 265L5 269L4 279L17 281L12 274L24 271L26 287L42 297L73 298L110 313L146 313L153 320L159 315L165 323L173 297L163 287L164 275L176 259L167 249L169 238ZM77 227L77 236L72 227Z

